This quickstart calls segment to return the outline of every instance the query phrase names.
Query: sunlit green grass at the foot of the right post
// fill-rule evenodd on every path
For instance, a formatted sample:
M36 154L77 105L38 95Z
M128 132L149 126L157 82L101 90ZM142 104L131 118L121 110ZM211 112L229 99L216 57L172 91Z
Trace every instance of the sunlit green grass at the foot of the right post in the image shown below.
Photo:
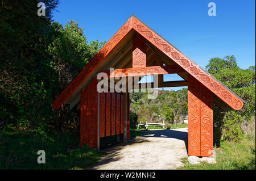
M255 141L247 138L240 142L222 141L216 151L216 164L202 162L192 165L183 158L184 166L179 169L199 170L255 170Z

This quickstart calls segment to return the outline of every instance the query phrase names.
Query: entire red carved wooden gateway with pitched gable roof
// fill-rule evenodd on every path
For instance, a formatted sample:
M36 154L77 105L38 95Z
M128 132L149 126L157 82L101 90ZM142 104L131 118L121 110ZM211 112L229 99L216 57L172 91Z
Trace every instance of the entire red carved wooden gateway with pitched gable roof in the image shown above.
M114 68L114 71L110 71ZM105 92L98 92L98 73L108 73ZM178 74L183 81L163 81L164 74ZM240 110L243 100L190 60L134 15L118 30L88 65L54 100L81 111L81 145L100 148L100 138L118 135L130 139L129 91L145 75L154 75L156 87L188 86L188 154L213 154L213 103L222 110ZM133 77L139 76L136 81ZM125 90L111 89L117 78ZM129 83L132 79L132 85ZM119 82L120 83L120 82ZM118 86L119 87L119 86Z

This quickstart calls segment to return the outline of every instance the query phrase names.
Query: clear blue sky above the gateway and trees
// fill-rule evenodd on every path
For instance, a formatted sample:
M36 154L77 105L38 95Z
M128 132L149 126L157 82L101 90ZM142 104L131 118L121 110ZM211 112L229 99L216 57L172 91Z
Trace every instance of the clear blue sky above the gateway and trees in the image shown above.
M209 2L216 3L216 16L208 16ZM202 68L228 55L242 69L255 65L254 0L63 0L57 10L53 19L63 25L75 20L88 41L108 41L134 14Z

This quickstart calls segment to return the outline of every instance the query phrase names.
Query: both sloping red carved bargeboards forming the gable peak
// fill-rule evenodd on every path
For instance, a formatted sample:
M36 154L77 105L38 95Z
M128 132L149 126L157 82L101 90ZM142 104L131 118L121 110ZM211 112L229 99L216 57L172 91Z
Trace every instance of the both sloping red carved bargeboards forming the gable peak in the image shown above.
M213 102L217 104L222 110L240 110L243 107L244 100L234 94L226 86L222 85L220 81L214 78L212 75L207 73L204 69L200 68L190 58L185 56L180 50L174 45L163 39L158 33L153 31L150 27L146 26L136 16L132 15L125 24L115 33L115 35L106 43L106 45L92 58L92 60L85 66L85 68L73 79L71 83L64 89L63 92L54 100L52 107L58 109L61 104L68 103L69 97L75 97L74 95L79 94L79 89L85 86L85 82L90 82L90 79L103 69L102 63L105 65L109 60L106 57L109 54L116 54L113 49L121 44L123 39L129 39L129 33L135 31L141 34L148 42L154 45L155 48L159 49L165 56L171 58L177 65L181 66L188 74L191 74L205 87L213 92Z

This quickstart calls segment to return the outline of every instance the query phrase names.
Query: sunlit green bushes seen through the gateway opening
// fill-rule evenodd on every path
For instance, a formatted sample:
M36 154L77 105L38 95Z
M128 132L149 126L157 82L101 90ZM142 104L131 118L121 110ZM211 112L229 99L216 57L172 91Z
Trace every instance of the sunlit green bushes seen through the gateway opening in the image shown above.
M187 115L187 89L178 91L158 90L156 99L148 99L149 92L130 93L130 112L143 123L181 123Z

